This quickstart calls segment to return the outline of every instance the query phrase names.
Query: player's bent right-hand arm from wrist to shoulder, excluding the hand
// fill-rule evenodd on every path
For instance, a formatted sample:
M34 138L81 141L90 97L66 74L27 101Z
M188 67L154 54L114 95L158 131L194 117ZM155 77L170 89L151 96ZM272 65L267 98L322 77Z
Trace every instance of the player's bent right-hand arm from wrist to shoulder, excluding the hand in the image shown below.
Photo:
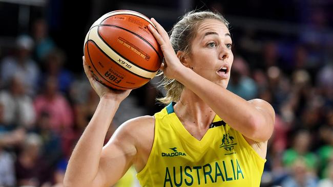
M244 136L256 142L265 142L272 135L275 112L266 101L246 101L189 68L184 68L177 80L195 92L226 123Z

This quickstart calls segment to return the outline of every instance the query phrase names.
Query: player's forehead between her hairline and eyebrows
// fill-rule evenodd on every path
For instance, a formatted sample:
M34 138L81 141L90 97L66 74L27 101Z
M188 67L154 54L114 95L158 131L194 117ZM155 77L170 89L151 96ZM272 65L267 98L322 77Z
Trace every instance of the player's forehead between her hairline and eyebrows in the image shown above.
M204 19L198 26L196 31L196 38L204 37L207 32L216 32L221 36L230 34L225 24L222 21L216 19Z

